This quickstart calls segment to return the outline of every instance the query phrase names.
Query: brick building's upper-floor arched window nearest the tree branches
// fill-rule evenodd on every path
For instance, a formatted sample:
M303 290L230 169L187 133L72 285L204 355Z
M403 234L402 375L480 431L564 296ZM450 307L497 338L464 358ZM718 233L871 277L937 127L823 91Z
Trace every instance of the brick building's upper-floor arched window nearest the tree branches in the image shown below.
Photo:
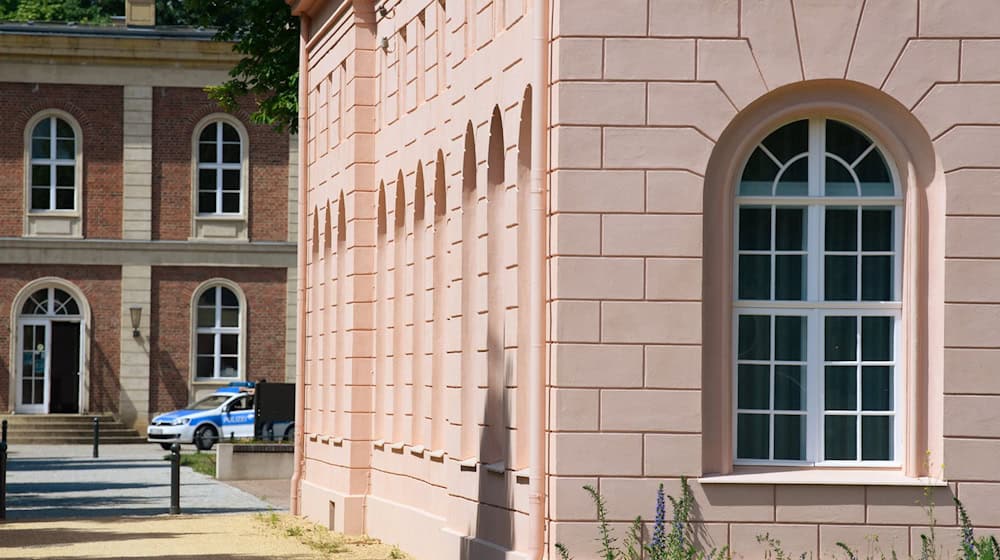
M236 126L214 120L198 134L198 214L243 212L243 137Z

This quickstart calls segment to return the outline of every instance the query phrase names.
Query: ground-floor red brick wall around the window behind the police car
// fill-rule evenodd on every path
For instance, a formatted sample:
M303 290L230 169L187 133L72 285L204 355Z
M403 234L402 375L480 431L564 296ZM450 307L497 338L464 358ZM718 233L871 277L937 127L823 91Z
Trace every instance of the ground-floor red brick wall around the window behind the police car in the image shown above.
M154 267L150 320L149 409L187 404L191 298L212 278L239 285L247 298L245 371L253 381L285 380L285 269Z

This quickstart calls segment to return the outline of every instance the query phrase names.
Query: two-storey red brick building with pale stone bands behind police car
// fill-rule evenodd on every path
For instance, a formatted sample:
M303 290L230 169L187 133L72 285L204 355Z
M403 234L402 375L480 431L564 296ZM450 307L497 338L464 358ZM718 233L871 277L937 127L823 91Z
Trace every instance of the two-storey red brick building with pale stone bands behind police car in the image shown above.
M296 143L207 98L230 44L127 7L0 25L0 410L143 429L294 376Z

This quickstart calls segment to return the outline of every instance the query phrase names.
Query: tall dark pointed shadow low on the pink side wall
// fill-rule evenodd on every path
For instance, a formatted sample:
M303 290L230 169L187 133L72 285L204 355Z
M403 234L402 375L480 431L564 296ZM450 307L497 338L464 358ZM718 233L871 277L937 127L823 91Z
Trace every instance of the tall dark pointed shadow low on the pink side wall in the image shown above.
M504 346L490 336L490 348ZM462 539L461 560L503 558L514 549L514 471L511 468L510 399L513 365L504 357L501 385L489 383L483 417L486 427L479 438L478 503L475 530ZM468 467L471 469L472 467ZM510 469L510 470L508 470ZM465 470L465 467L463 467ZM490 550L492 549L492 550Z

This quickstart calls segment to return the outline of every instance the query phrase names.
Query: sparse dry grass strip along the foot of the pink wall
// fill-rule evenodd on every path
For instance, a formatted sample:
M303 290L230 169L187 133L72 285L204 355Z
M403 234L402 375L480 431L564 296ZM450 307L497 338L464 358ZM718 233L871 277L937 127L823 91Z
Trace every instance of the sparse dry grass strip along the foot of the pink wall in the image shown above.
M295 539L324 558L336 560L409 559L397 546L383 544L366 535L347 536L288 514L257 514L262 530L274 536Z

